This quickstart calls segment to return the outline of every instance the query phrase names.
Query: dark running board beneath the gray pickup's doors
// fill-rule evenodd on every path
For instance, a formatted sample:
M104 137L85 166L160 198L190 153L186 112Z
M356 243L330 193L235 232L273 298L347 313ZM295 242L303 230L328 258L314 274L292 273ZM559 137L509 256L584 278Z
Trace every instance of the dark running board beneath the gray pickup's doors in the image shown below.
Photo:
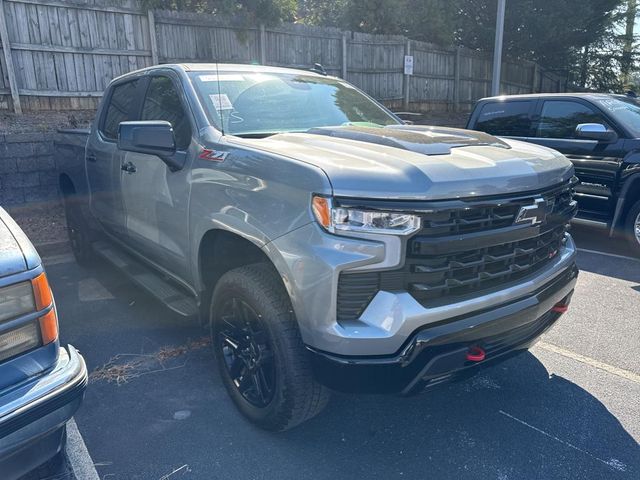
M94 251L121 270L134 283L156 297L174 312L185 317L198 315L198 305L195 298L182 292L171 282L163 279L155 270L147 267L132 255L106 242L96 242L92 245Z

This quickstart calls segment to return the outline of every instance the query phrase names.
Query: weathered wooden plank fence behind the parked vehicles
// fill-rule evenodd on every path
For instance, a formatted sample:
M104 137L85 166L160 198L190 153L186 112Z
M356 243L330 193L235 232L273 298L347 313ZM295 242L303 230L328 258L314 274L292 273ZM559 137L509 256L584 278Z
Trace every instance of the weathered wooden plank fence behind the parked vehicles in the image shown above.
M92 109L108 82L157 63L321 63L394 108L466 110L489 95L491 58L402 36L145 11L137 0L0 0L0 110ZM404 56L414 57L413 75ZM563 91L531 62L503 64L501 92Z

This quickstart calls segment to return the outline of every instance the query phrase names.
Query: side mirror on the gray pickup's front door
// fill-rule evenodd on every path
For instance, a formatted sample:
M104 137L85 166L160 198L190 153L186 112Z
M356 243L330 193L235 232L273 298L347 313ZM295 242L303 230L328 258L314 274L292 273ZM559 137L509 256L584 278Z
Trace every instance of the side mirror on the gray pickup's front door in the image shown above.
M172 169L182 168L174 158L176 141L171 123L164 120L120 122L118 148L127 152L156 155Z

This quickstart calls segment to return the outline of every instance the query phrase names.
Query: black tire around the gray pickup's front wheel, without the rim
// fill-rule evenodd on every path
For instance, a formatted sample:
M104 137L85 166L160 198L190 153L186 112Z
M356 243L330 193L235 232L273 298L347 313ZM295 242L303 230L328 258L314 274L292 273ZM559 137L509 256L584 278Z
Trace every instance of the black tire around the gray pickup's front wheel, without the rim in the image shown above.
M227 351L225 357L223 348L227 345L223 329L229 318L223 318L223 313L228 311L229 302L232 306L243 302L264 329L260 341L265 350L270 350L274 372L272 397L264 406L245 398L232 378L234 369L228 366L229 354ZM238 410L251 422L266 430L283 431L314 417L325 407L329 391L313 377L310 354L302 342L289 296L270 265L253 264L225 273L212 295L209 324L224 385Z

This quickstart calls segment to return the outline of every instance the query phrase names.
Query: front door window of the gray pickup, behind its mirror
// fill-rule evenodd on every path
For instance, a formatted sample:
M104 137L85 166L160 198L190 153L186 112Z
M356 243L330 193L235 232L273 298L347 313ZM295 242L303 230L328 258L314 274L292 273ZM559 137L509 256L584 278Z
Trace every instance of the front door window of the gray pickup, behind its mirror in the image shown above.
M142 120L166 120L173 126L176 148L184 150L189 146L191 125L170 78L151 77L142 106Z

